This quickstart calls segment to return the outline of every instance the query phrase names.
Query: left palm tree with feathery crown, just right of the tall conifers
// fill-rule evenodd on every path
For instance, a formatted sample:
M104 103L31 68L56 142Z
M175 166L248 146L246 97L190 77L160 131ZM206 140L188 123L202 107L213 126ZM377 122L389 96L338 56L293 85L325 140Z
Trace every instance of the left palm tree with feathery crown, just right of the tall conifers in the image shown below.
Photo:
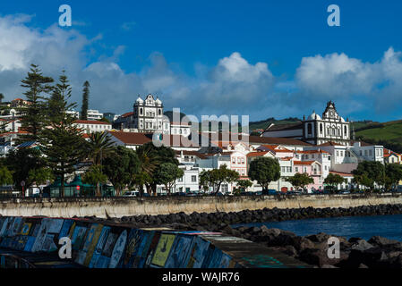
M114 153L113 142L106 132L95 132L90 134L87 143L87 156L94 165L102 168L102 158L111 156ZM97 182L97 197L100 197L100 185Z

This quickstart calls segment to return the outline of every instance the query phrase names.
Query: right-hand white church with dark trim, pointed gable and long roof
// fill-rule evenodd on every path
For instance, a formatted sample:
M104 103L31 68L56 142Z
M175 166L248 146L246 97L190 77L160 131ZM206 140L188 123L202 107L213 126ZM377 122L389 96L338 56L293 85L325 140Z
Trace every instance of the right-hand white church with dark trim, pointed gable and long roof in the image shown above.
M350 122L338 114L337 108L329 101L322 116L312 112L303 122L294 124L271 124L262 133L263 137L279 137L302 139L313 145L321 145L327 142L335 142L349 146Z

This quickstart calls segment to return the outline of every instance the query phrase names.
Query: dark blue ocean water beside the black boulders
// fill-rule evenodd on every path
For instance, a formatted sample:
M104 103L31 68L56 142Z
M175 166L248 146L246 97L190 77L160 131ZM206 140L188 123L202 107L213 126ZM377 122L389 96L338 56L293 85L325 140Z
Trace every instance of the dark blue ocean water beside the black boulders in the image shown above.
M244 225L266 225L268 228L292 231L298 236L325 232L331 235L343 236L346 239L362 238L370 240L373 236L378 235L389 240L402 241L402 214L314 218L275 223L247 223L234 224L232 227Z

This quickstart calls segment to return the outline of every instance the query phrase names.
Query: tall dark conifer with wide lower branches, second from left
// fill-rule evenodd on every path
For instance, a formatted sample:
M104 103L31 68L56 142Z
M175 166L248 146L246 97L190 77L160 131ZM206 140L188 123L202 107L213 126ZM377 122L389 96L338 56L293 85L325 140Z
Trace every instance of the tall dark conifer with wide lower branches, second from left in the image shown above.
M66 174L74 172L76 165L85 156L85 140L81 136L81 130L73 124L73 114L66 113L76 106L75 103L68 103L72 94L68 82L63 73L56 84L53 97L48 100L48 105L56 106L57 112L49 117L48 128L43 131L40 139L43 153L47 156L47 165L61 180L61 197L64 197Z

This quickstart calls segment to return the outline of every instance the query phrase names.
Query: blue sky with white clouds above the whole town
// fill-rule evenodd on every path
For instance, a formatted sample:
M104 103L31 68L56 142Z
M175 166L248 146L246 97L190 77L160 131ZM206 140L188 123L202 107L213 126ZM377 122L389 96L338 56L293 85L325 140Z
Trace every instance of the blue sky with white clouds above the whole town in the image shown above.
M73 27L57 26L60 4ZM329 4L340 27L327 25ZM301 117L332 99L353 120L397 120L401 12L401 1L7 1L0 92L18 96L35 62L55 78L65 68L78 102L90 80L103 112L152 92L186 114Z

